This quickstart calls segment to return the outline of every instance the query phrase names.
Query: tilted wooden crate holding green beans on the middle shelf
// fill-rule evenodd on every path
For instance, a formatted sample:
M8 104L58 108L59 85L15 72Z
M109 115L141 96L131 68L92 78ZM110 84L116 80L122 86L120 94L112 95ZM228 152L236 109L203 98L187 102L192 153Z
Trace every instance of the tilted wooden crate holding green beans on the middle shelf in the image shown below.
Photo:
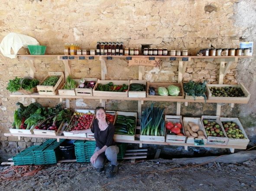
M50 76L56 75L59 77L55 86L48 86L48 85L37 85L36 88L38 90L39 95L56 95L58 94L58 89L60 89L63 84L65 83L65 78L63 72L48 72L48 76L44 78L45 81Z

